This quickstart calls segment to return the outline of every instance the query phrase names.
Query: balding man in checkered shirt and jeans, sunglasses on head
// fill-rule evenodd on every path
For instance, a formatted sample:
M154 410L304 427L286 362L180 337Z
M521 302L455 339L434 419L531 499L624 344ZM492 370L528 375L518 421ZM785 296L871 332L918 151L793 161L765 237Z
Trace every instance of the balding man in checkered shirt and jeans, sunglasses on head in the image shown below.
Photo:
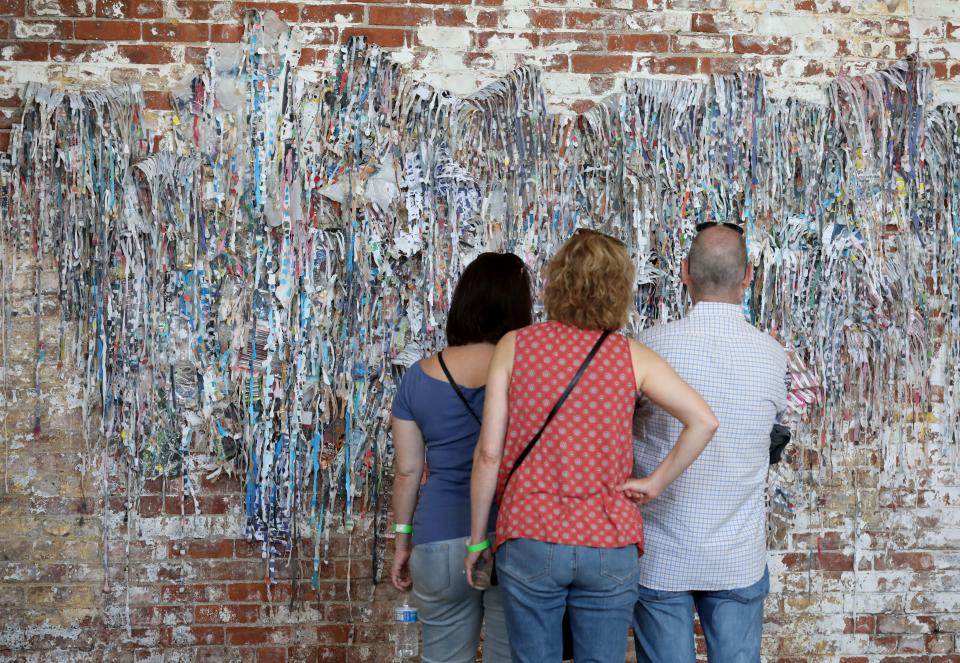
M712 663L756 663L770 586L764 502L770 430L786 409L787 357L744 319L753 269L739 226L697 226L681 277L693 308L682 320L646 330L640 341L703 396L720 428L680 478L643 507L637 661L694 663L696 609ZM660 408L640 403L636 476L653 471L680 428Z

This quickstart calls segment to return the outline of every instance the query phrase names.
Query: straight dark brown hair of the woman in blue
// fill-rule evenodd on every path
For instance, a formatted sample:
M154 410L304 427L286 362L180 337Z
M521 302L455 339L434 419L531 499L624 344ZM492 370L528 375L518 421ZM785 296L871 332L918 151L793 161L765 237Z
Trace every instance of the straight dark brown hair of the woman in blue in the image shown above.
M533 322L530 272L512 253L482 253L467 265L453 291L447 344L497 343Z

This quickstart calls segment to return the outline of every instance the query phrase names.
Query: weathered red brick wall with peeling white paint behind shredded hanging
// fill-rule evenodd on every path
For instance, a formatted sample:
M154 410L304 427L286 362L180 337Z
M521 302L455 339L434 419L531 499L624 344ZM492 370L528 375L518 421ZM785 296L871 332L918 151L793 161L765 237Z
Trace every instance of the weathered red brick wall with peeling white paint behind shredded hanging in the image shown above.
M167 91L211 43L237 41L239 16L250 7L296 23L302 63L317 71L336 44L362 33L458 92L533 59L546 70L552 100L574 109L631 73L738 67L759 67L780 93L817 96L842 67L916 51L940 79L938 98L960 97L960 0L901 0L892 10L874 0L2 0L0 131L28 80L140 80L163 122ZM372 583L367 519L352 535L332 537L317 590L309 545L269 586L259 547L241 538L236 480L195 477L199 514L178 484L149 482L127 520L125 477L112 461L106 477L79 471L90 452L73 406L77 376L47 361L46 391L33 394L28 273L11 293L19 315L6 376L0 660L388 660L396 596ZM53 282L42 308L50 312L47 337L58 321ZM837 445L843 451L833 456L808 451L780 470L796 504L771 517L768 660L960 661L956 451L937 436L935 414L892 422L897 427L905 460L884 473L869 442ZM113 495L106 505L104 481Z

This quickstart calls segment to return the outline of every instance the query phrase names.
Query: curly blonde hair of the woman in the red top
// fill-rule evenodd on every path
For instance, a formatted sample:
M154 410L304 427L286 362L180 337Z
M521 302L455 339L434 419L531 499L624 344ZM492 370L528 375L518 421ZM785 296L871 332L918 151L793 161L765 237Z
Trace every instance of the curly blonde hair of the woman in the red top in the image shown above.
M622 242L577 231L547 263L547 318L580 329L620 329L633 303L634 273Z

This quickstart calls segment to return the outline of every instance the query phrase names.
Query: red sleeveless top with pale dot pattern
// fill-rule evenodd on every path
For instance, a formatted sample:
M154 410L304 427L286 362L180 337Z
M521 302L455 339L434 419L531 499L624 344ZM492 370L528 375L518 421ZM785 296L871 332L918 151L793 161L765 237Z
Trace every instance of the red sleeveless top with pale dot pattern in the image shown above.
M620 334L604 341L503 493L510 468L599 336L556 321L517 332L497 546L522 538L594 548L636 544L643 551L640 510L617 491L633 469L637 391L629 341Z

